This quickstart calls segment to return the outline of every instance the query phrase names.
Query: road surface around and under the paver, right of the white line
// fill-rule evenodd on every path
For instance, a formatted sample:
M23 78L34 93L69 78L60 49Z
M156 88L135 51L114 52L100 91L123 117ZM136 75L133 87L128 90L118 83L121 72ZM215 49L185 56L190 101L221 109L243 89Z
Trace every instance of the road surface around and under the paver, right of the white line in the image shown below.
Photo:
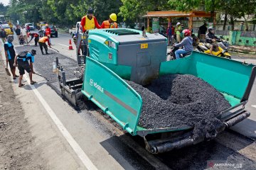
M75 50L68 50L70 35L59 33L58 36L51 38L51 42L52 47L63 55L61 62L75 62ZM32 45L31 42L31 47ZM75 49L75 45L72 45ZM29 48L17 47L18 50ZM40 53L38 47L33 48ZM45 60L51 63L56 55L57 52L51 50ZM253 58L233 54L233 59L256 64L256 56ZM43 60L35 64L36 72L44 77L49 76L46 68L51 72L52 65L45 64ZM228 163L214 169L234 169L234 166L256 169L256 86L253 87L246 106L251 113L250 118L238 123L232 130L225 130L210 142L152 155L145 151L142 138L124 133L110 118L103 116L93 103L85 103L85 108L75 110L58 95L58 89L54 88L58 86L55 81L49 83L42 77L36 77L36 80L39 82L35 85L39 94L97 169L206 169L211 162Z

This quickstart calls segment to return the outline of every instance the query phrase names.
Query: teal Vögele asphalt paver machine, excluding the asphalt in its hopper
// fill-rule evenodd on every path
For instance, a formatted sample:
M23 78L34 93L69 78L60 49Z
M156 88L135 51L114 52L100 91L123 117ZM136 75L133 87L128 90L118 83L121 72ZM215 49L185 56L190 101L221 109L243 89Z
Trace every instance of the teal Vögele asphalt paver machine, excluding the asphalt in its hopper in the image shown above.
M167 40L158 33L127 28L90 30L78 34L75 79L65 79L64 67L58 62L57 75L62 95L76 104L80 91L109 115L130 135L143 137L151 154L169 152L204 140L213 140L226 128L250 116L245 105L256 75L253 64L193 51L180 60L166 61ZM80 48L82 55L78 55ZM218 119L223 127L211 137L192 137L187 125L167 128L144 128L138 125L142 112L142 96L126 80L146 84L166 74L191 74L206 81L230 103ZM171 116L171 113L170 113Z

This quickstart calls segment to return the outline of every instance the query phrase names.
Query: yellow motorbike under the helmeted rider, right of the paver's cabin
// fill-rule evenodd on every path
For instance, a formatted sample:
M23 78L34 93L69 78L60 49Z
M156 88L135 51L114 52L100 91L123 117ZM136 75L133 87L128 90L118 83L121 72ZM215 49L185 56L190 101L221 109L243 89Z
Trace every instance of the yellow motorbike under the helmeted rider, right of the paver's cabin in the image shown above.
M231 55L230 53L228 53L228 42L223 39L218 39L217 45L218 47L216 47L216 49L213 48L212 55L231 59ZM198 50L199 52L205 52L207 54L210 54L210 44L199 42L196 50Z

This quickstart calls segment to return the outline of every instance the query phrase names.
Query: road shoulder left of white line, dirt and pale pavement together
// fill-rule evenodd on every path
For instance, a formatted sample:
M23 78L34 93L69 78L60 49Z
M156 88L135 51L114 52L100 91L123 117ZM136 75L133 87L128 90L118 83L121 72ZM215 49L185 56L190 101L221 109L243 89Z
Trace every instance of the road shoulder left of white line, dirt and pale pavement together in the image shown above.
M85 169L28 82L18 88L4 63L0 60L0 169Z

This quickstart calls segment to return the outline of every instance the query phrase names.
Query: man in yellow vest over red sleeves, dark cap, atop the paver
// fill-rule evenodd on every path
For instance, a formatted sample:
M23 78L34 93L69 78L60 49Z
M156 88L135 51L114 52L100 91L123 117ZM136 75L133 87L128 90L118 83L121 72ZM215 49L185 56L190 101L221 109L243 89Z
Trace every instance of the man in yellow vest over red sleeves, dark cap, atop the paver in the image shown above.
M81 20L82 33L85 33L87 30L92 30L95 28L100 29L100 24L97 22L95 16L93 16L93 9L89 8L87 15L82 17Z

